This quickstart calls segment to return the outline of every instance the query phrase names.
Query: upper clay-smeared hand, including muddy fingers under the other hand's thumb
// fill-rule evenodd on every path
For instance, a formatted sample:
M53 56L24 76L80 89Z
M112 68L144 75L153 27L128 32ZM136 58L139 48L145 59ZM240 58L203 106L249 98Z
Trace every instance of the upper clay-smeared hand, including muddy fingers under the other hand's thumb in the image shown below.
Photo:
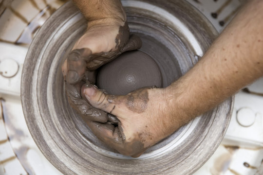
M86 81L95 83L93 70L113 60L120 53L140 47L140 38L129 36L127 23L121 26L120 22L108 19L107 22L92 21L88 25L87 32L75 43L73 51L62 66L69 102L85 121L107 122L109 115L84 101L80 95L80 87Z

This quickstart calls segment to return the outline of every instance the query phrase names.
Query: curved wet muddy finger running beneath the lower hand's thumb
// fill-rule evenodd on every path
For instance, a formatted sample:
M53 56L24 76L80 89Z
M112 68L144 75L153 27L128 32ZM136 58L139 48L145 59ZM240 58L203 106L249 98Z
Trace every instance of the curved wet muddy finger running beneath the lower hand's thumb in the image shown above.
M67 96L70 105L75 108L78 114L81 115L83 120L87 122L88 120L106 123L108 121L108 115L105 111L96 109L88 104L85 100L81 98L80 88L82 83L76 85L66 84Z

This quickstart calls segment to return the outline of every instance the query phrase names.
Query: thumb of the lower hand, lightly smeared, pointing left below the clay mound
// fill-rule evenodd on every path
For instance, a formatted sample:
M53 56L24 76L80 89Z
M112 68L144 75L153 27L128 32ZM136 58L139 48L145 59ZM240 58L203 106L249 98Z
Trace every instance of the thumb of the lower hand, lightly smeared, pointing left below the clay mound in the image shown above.
M90 83L81 88L82 98L86 99L93 107L104 110L116 116L122 115L121 97L119 95L106 94L95 88Z

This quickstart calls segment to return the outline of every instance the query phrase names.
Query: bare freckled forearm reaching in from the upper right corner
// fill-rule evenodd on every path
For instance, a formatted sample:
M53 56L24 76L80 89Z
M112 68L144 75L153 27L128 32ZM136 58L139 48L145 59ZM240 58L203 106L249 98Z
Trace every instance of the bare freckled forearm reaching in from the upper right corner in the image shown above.
M173 123L193 119L263 75L262 19L263 1L249 1L203 58L165 89Z

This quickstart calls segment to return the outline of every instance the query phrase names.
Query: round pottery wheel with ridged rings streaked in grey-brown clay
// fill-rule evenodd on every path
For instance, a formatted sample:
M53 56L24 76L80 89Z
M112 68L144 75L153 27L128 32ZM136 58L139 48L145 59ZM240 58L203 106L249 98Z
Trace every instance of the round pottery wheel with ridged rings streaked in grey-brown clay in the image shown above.
M201 13L182 0L123 0L131 33L140 52L150 56L162 86L185 74L217 33ZM21 99L32 137L47 159L65 175L189 175L220 144L228 126L232 99L197 117L138 158L118 154L99 141L68 104L61 72L63 59L87 22L71 1L39 29L22 73ZM157 72L158 72L157 71Z

